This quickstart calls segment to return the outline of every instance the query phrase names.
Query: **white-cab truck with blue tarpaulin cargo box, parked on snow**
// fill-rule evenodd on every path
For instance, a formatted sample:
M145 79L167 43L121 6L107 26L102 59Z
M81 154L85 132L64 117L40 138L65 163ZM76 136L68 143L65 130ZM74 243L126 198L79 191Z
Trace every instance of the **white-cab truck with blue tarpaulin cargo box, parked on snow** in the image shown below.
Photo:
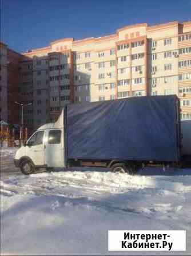
M179 120L176 95L69 104L18 149L14 164L25 174L68 166L133 174L150 164L178 165L191 155L190 122L182 125L182 148Z

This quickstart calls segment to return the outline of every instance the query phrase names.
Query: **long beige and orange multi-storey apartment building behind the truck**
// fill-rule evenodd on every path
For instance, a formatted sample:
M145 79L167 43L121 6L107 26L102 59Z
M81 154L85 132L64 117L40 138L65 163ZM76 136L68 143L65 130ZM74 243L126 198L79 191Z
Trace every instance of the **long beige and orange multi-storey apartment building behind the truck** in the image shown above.
M63 38L23 53L24 122L53 121L65 104L176 94L191 119L191 22L136 24L99 38ZM79 105L80 107L80 105Z

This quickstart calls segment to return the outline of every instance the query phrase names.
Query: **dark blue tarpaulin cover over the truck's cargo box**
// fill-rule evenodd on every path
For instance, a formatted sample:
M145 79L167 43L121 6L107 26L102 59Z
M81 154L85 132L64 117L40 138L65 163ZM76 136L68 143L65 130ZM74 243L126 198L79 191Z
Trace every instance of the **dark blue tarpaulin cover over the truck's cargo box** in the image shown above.
M67 158L178 161L176 95L70 104Z

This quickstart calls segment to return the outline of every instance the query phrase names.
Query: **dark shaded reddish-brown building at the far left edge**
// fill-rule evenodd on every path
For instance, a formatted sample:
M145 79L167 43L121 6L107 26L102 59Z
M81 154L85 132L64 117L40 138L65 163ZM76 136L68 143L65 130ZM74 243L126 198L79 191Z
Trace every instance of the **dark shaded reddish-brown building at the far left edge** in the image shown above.
M19 122L18 83L22 55L0 42L0 120Z

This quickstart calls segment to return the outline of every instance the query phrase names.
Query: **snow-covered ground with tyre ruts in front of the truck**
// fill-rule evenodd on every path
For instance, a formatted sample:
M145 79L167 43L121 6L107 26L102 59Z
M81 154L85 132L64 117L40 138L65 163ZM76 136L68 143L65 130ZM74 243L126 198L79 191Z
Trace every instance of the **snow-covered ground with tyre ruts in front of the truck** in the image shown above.
M3 254L148 254L109 252L108 230L186 230L186 252L166 254L190 255L191 169L148 168L134 176L76 169L1 179Z

